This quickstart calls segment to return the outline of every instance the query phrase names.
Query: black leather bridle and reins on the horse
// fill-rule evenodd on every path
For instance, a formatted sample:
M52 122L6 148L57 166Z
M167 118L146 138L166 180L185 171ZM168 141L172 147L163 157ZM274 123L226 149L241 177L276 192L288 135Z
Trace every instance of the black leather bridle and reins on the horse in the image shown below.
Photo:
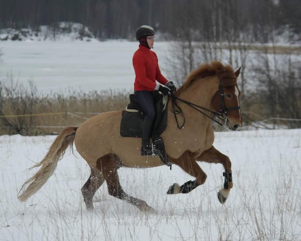
M185 124L185 116L182 113L182 109L176 103L176 100L182 101L183 103L189 105L190 107L194 108L195 110L197 110L198 112L202 113L206 117L208 117L211 120L215 121L220 126L225 126L227 124L227 120L228 120L228 112L229 111L234 111L234 110L239 110L240 106L238 105L238 106L229 107L229 108L226 107L226 105L225 105L225 97L224 97L224 86L223 86L222 83L219 84L219 91L217 91L216 94L218 92L220 93L220 97L221 97L220 112L211 111L211 110L209 110L207 108L204 108L202 106L199 106L199 105L193 104L191 102L188 102L186 100L183 100L183 99L180 99L178 97L175 97L175 95L172 92L171 92L171 94L168 94L168 96L170 96L172 98L171 112L175 115L175 120L177 122L178 128L181 129L184 126L184 124ZM214 95L214 98L216 97L216 94ZM198 108L200 108L202 110L205 110L205 111L209 111L211 114L213 114L214 116L216 116L217 118L219 118L219 120L223 121L224 124L222 124L219 121L213 119L211 116L209 116L208 114L204 113L203 111L201 111ZM181 127L179 126L178 119L177 119L177 116L176 116L177 114L180 114L180 113L182 113L182 115L184 117L184 123L183 123L183 125Z

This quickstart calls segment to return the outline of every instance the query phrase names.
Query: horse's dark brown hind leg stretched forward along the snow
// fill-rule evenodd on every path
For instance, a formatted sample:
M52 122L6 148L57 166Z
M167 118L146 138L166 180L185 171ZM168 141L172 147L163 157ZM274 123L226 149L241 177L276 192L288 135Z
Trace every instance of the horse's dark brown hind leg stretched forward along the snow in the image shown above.
M145 201L134 198L123 191L119 183L116 158L118 158L116 155L108 154L97 160L97 167L104 175L109 194L113 197L127 201L139 208L141 211L154 211L154 209Z

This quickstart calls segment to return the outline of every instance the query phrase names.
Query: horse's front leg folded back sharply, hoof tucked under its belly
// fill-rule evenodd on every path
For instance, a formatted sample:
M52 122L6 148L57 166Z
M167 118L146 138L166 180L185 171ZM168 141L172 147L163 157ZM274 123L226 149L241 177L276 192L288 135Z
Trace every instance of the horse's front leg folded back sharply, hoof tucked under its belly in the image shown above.
M188 193L195 189L197 186L205 183L207 176L197 164L191 152L185 152L178 159L170 158L170 161L181 167L185 172L195 177L196 179L194 181L190 180L184 183L182 186L179 186L178 183L174 183L169 187L167 194Z

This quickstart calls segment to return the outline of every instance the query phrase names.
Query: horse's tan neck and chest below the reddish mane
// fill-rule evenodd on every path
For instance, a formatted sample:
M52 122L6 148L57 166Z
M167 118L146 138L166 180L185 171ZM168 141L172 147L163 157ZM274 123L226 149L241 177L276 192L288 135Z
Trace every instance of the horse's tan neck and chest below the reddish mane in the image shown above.
M211 107L211 100L218 90L218 85L219 80L217 77L194 80L186 87L186 89L179 93L178 98L200 105L203 108L213 110ZM179 143L182 143L182 145L185 144L192 152L197 151L201 154L204 149L209 149L213 144L214 134L211 120L181 101L177 101L177 104L182 109L183 115L177 115L178 121L176 121L173 114L170 113L170 125L167 125L169 132L166 132L166 135L174 135L175 138L181 140ZM171 102L169 102L169 110L170 109ZM211 115L208 111L200 111ZM185 117L185 122L183 116ZM181 126L183 123L185 123L184 128L177 129L177 126Z

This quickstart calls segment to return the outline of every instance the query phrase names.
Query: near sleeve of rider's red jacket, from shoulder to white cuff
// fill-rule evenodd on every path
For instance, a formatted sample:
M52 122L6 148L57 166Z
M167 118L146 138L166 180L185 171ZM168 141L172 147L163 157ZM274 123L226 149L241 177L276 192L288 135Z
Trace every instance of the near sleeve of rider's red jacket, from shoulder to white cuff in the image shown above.
M144 57L139 55L134 55L133 66L134 66L136 78L139 81L139 83L146 86L147 88L155 89L156 83L154 83L153 81L151 81L149 78L146 77Z

